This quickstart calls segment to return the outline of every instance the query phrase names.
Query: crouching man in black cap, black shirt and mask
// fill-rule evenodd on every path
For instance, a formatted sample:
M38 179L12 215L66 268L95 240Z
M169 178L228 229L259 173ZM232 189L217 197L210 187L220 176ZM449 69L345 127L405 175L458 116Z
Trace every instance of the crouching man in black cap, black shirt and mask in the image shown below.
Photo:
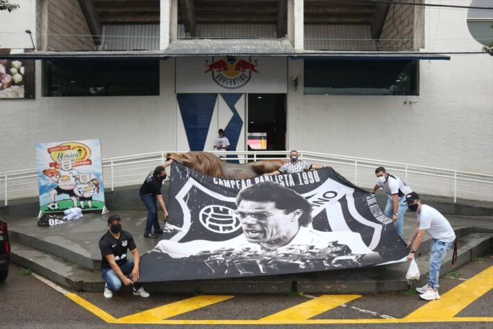
M133 260L126 259L126 251L130 248ZM126 230L122 230L122 219L117 214L108 218L108 232L99 239L101 249L101 276L106 281L104 296L112 298L124 285L133 285L135 296L149 297L144 287L137 283L139 278L140 255L133 241L133 237Z

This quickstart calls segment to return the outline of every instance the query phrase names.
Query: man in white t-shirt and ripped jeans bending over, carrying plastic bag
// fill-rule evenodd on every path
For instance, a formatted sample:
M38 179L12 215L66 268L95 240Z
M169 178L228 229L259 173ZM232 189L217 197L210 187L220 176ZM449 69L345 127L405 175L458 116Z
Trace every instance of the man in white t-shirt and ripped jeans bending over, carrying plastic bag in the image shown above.
M426 301L440 299L440 294L438 294L440 266L442 265L442 260L445 258L446 252L452 248L453 242L456 240L456 233L453 232L449 221L438 210L421 203L417 193L411 192L407 194L406 203L410 211L417 212L418 217L415 232L412 233L412 237L408 242L408 247L411 248L408 260L415 258L415 253L421 244L424 233L428 232L432 237L428 283L423 287L416 288L416 290L421 293L419 297Z

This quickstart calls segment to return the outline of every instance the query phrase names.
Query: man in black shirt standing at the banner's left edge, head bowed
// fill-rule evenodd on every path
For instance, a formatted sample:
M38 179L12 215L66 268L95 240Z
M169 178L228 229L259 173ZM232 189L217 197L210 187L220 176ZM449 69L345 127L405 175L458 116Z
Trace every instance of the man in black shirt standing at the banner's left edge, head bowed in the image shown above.
M168 218L168 212L166 210L165 201L162 200L161 187L162 181L166 178L165 168L172 163L173 160L169 160L165 162L162 166L156 167L156 169L154 169L147 175L144 183L142 183L142 186L140 187L140 199L147 208L147 223L144 230L144 237L151 237L153 239L156 239L156 235L163 233L158 221L158 203L162 211L165 212L164 221L166 222ZM151 233L153 226L154 234Z

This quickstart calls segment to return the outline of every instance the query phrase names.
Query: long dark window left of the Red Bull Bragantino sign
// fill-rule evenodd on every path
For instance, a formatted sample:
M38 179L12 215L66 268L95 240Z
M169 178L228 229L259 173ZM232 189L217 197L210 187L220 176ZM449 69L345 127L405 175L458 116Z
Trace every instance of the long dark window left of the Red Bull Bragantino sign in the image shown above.
M159 60L47 60L44 96L159 94Z

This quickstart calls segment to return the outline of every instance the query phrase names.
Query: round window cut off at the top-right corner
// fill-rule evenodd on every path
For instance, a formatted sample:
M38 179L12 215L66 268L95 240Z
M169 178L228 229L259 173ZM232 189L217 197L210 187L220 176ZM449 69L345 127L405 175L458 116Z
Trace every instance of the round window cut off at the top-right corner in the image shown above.
M471 7L492 7L492 0L473 0ZM467 28L472 37L488 46L493 42L493 10L469 9L467 11Z

